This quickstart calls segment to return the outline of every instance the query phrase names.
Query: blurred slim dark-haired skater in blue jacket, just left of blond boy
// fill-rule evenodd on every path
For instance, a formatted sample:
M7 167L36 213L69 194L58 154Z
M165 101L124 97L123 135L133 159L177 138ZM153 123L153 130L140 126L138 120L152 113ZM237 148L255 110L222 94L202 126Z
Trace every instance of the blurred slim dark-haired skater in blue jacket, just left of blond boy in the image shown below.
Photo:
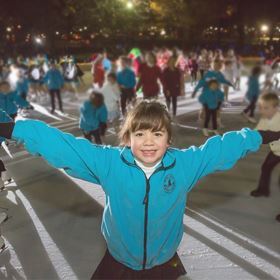
M259 83L260 74L261 74L261 67L259 66L254 67L252 70L252 75L249 78L248 90L246 93L246 97L249 100L250 104L242 112L242 116L251 123L257 122L254 118L254 115L255 115L256 104L260 95L260 83Z

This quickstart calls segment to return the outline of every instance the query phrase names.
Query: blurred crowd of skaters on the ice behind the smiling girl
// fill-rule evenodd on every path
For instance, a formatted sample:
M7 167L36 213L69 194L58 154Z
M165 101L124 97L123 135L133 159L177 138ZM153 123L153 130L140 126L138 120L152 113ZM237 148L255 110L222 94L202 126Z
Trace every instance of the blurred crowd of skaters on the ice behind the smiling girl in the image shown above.
M168 111L176 122L178 97L185 96L185 83L190 82L191 97L201 103L199 119L203 135L220 134L222 128L221 108L231 106L229 88L241 89L241 76L248 76L244 96L248 106L241 112L251 123L256 123L255 109L259 104L261 120L257 127L262 130L280 130L278 72L280 59L275 56L263 59L257 65L246 67L233 49L202 49L199 53L169 50L166 48L141 52L133 49L129 54L111 60L106 52L94 53L90 57L92 85L88 99L80 107L79 127L84 137L96 144L104 143L108 125L116 133L120 121L136 104L138 96L145 100L158 100L164 96ZM264 74L264 83L260 75ZM32 59L19 56L15 60L0 60L0 122L15 120L17 114L24 116L33 109L30 102L46 105L50 100L52 114L56 113L56 99L63 113L62 90L79 99L79 87L84 84L84 72L73 56L59 59L38 55ZM271 113L273 112L273 113ZM267 119L272 121L266 121ZM212 130L209 129L210 120ZM4 139L1 139L5 142ZM269 196L269 182L273 168L280 162L280 144L271 145L261 172L260 183L251 195ZM0 189L11 181L3 162L0 162ZM1 214L0 222L7 219ZM277 216L277 220L280 217ZM2 245L0 239L0 247ZM4 241L3 241L4 244Z

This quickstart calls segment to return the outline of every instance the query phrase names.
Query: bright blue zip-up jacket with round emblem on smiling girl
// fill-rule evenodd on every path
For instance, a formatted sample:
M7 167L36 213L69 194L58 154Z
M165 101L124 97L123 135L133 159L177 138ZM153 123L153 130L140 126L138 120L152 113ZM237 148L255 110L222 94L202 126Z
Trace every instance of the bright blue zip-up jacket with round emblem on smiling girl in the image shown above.
M109 252L135 270L163 264L175 254L184 232L187 193L197 181L232 168L262 143L258 131L245 128L212 137L201 147L169 148L147 179L128 147L94 145L34 120L17 121L12 138L55 168L102 186L101 230Z

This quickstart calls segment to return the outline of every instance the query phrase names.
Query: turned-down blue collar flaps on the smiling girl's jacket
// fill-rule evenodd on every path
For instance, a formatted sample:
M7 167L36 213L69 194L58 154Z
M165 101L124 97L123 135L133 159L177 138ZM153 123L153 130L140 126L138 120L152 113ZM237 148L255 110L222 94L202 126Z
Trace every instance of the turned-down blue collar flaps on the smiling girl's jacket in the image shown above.
M136 166L134 155L129 147L122 149L121 158L126 164ZM161 166L164 169L169 169L175 165L175 162L176 158L172 154L171 149L167 149L161 161Z

